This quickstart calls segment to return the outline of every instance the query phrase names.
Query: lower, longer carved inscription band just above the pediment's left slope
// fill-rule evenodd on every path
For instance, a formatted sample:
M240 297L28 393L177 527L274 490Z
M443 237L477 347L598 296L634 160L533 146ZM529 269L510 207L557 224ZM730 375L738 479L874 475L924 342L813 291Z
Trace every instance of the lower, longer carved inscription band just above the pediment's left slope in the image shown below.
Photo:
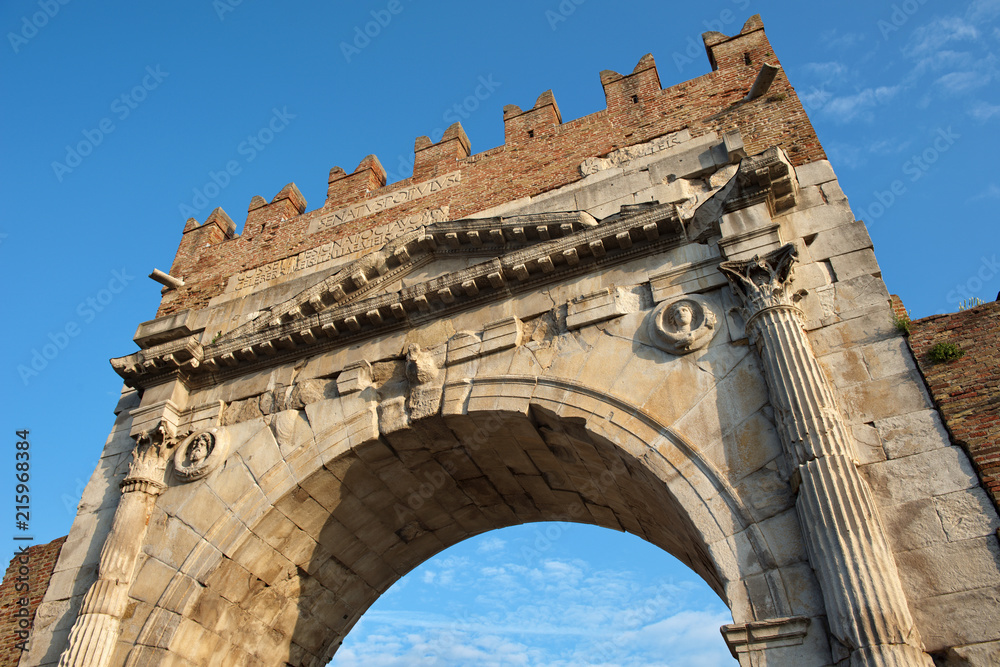
M227 291L249 292L269 280L320 266L335 259L371 250L372 248L381 248L389 241L409 231L413 231L421 225L431 222L443 222L447 219L448 207L444 206L430 211L422 211L385 225L365 229L357 234L351 234L350 236L345 236L319 247L304 250L298 255L278 260L277 262L271 262L256 269L237 273L229 279Z

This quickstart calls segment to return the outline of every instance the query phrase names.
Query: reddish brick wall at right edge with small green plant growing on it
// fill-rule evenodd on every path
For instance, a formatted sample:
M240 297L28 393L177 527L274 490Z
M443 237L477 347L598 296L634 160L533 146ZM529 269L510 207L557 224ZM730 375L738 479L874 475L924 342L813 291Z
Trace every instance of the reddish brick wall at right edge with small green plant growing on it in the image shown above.
M935 363L928 353L937 343L964 355ZM1000 509L1000 302L912 322L910 348L952 440L968 452Z

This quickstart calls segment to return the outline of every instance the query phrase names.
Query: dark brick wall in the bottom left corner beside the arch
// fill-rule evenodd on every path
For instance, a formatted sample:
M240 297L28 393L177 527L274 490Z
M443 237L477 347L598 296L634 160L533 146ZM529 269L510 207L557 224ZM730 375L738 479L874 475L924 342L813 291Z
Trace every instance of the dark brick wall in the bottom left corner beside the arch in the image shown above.
M52 576L52 569L56 566L59 558L59 550L62 549L65 537L60 537L48 544L36 544L29 547L26 552L27 564L22 562L24 556L14 556L4 574L3 583L0 584L0 667L16 667L21 660L21 649L17 643L21 639L15 634L20 629L20 617L15 614L21 609L18 600L28 597L28 622L33 623L35 610L38 609L45 590L49 587L49 578ZM20 572L22 567L28 569L27 584L28 592L17 590L17 585L24 584Z

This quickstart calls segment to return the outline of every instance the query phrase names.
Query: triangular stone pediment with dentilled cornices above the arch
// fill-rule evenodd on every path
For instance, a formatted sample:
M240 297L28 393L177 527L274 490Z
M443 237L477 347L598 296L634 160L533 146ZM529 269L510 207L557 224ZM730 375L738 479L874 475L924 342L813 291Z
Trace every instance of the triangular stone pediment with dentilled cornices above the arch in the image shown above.
M200 386L686 241L674 205L656 202L624 206L600 223L582 211L435 223L352 262L209 345L188 336L112 359L111 365L132 387L174 379ZM489 259L378 293L415 269L452 256Z

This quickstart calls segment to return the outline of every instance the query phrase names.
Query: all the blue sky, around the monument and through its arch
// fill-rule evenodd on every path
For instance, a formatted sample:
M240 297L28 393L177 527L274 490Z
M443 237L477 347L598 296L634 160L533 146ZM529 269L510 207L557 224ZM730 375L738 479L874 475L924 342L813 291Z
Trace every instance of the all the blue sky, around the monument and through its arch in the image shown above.
M136 325L154 316L159 285L145 276L169 268L189 215L222 206L241 224L253 195L290 181L316 208L329 169L352 171L369 153L404 178L414 138L436 138L456 116L473 152L487 150L503 142L505 104L530 106L550 88L565 119L593 113L604 106L598 73L629 72L647 52L664 86L688 80L709 71L700 34L734 34L754 13L868 223L890 291L913 317L995 298L998 0L4 3L2 451L12 469L14 431L30 429L30 532L68 532L121 386L107 360L133 351ZM358 37L372 21L377 34ZM0 475L2 497L11 478ZM0 545L13 549L8 507ZM422 566L337 664L489 664L443 653L458 643L495 664L729 660L724 606L669 556L573 526L527 564L518 545L536 529L491 533ZM629 609L644 611L614 615ZM532 614L549 625L526 632ZM603 662L575 653L605 636ZM626 636L635 641L616 643ZM668 636L721 652L675 659ZM425 641L437 648L413 660Z

